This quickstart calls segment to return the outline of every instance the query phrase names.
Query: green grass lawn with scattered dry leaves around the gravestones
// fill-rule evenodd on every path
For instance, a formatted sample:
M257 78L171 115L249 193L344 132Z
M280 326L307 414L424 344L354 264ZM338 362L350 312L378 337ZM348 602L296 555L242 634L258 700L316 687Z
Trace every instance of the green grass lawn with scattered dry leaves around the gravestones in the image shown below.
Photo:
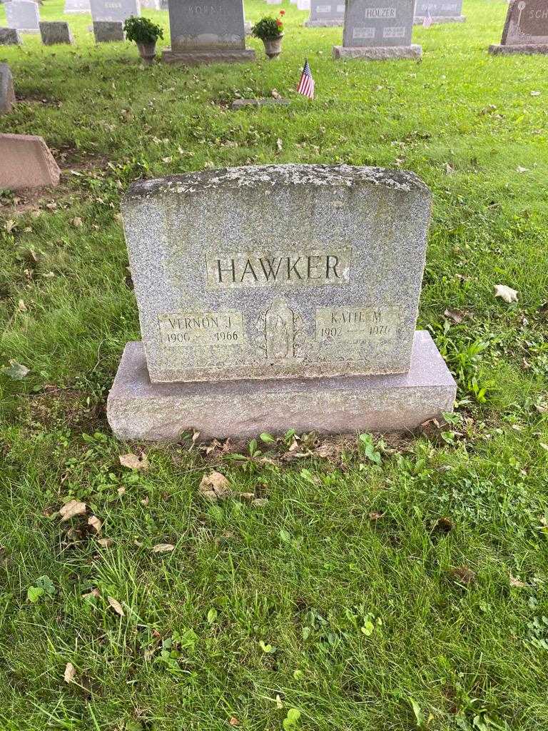
M18 96L0 131L43 135L63 170L0 199L2 731L547 727L548 77L546 57L487 55L506 7L416 28L421 63L332 61L341 29L286 0L274 62L251 39L252 64L144 68L80 15L72 47L0 47ZM305 56L314 102L293 91ZM273 88L292 104L227 107ZM121 194L265 162L400 166L433 189L419 326L459 385L446 431L308 435L304 456L259 440L247 460L113 438L107 390L139 338ZM212 469L259 501L203 499ZM87 512L62 522L71 499Z

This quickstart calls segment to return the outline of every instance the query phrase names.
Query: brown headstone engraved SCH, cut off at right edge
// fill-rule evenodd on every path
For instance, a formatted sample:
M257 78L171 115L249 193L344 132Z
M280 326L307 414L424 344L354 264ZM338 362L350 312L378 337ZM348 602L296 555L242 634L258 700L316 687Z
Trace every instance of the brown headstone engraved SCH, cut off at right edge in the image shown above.
M548 0L511 0L501 42L489 53L548 53Z

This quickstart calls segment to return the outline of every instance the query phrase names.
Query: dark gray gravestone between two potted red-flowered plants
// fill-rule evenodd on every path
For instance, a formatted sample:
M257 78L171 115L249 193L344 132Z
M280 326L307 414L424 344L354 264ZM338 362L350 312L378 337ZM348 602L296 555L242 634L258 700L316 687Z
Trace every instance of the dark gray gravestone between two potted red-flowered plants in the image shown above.
M170 2L171 48L164 50L167 63L201 64L218 61L251 61L254 50L246 48L242 0Z

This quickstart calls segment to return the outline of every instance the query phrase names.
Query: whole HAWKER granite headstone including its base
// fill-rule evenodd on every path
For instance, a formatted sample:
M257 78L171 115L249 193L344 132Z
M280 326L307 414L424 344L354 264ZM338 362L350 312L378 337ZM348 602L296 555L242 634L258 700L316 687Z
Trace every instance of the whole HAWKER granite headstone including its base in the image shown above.
M123 439L414 428L456 387L415 332L430 191L413 173L267 165L134 183L123 224L142 343Z

